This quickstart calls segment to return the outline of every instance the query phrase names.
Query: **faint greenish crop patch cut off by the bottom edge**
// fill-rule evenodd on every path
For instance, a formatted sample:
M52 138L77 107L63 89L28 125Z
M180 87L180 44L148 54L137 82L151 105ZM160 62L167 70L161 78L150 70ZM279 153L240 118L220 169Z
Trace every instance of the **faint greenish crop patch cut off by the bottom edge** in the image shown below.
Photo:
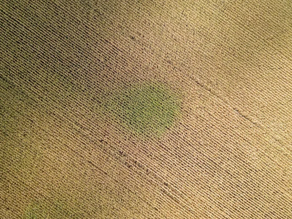
M29 205L23 219L81 219L82 214L61 200L42 200Z

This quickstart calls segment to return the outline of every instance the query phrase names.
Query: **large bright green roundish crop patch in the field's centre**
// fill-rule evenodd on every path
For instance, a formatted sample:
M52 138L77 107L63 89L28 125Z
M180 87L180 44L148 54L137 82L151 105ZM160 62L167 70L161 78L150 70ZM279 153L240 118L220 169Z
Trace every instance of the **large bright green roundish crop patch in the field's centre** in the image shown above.
M161 136L180 113L178 96L161 83L144 83L114 93L105 103L130 132Z

